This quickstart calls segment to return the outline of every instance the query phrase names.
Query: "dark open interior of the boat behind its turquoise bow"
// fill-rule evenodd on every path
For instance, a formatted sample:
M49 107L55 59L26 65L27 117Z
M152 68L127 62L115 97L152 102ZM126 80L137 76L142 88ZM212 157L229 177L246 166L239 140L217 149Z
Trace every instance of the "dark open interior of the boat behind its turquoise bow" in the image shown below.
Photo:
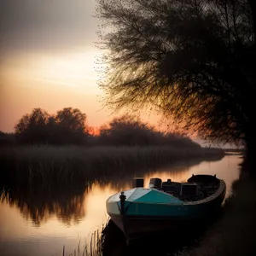
M214 194L219 187L216 175L192 175L186 183L162 182L159 177L150 179L148 187L159 189L183 201L199 201Z

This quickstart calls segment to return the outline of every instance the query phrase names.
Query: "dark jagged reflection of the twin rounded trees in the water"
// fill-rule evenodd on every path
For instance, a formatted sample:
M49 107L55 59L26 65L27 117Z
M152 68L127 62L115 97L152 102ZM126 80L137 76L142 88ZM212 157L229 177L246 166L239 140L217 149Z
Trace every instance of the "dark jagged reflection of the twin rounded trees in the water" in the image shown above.
M18 208L26 220L31 220L39 228L53 215L63 224L70 226L79 223L85 216L85 195L89 186L75 187L68 190L37 191L26 188L4 189L2 202L10 208Z

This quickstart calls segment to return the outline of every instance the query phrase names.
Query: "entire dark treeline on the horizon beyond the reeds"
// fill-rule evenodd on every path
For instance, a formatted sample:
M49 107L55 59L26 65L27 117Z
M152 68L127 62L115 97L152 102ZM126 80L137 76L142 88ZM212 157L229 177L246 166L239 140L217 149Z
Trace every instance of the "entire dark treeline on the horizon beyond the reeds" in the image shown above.
M52 115L34 108L21 117L14 133L0 132L0 144L201 147L183 134L156 131L128 114L114 118L96 132L92 130L86 114L78 108L63 108Z

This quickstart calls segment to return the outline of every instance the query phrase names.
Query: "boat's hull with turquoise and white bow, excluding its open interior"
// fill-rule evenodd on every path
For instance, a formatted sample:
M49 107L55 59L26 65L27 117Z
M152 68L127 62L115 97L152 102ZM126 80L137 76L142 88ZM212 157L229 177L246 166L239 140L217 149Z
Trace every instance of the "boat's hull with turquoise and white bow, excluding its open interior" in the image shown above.
M165 230L180 230L209 218L224 201L226 186L220 180L218 190L199 201L182 201L157 189L136 188L112 195L107 212L127 240Z

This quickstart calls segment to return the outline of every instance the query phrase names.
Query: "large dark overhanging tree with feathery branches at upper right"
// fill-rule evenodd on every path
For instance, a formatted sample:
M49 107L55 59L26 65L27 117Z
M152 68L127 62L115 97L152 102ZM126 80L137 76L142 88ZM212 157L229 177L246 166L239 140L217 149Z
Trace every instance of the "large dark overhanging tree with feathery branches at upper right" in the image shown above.
M254 1L97 2L97 17L112 28L101 35L107 103L154 105L200 137L243 142L253 160Z

